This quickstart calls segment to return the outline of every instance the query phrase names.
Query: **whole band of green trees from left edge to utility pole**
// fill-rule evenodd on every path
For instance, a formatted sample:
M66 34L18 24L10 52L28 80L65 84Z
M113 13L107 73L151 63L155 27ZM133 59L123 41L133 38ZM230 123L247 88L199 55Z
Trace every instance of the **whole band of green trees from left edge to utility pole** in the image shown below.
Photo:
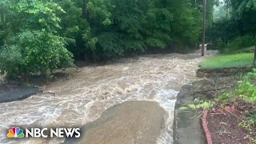
M200 42L201 31L202 2L194 0L2 0L0 71L24 78L72 66L74 59L184 51Z

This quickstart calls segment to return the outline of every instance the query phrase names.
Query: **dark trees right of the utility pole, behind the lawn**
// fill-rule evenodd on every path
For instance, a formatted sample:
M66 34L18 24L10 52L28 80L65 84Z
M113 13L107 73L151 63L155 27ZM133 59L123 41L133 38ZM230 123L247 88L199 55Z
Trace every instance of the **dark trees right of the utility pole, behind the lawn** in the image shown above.
M218 3L207 39L223 53L256 45L256 1L223 0Z

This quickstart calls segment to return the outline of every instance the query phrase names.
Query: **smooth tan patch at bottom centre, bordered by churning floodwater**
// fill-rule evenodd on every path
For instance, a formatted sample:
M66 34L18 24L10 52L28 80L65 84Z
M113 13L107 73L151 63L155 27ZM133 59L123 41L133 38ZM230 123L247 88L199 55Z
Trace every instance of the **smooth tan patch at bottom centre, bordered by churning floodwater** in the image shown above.
M165 111L158 102L124 102L82 126L81 137L64 143L155 144L164 125Z

